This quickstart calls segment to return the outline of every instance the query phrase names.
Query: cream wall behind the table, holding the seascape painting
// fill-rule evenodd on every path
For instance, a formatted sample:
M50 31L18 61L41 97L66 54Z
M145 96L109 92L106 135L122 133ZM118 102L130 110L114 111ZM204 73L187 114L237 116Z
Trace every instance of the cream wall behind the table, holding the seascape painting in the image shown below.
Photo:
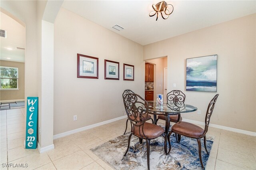
M186 90L186 59L218 55L217 93L212 124L256 132L256 14L145 45L144 60L168 56L168 91L179 89L186 103L202 111L182 114L204 122L216 93ZM176 87L172 84L176 83Z

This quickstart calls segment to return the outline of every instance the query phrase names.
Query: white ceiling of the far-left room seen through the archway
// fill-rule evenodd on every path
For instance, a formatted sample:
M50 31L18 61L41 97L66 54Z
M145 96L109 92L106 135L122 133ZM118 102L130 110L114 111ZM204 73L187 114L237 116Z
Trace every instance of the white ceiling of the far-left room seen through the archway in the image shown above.
M25 27L2 12L0 15L1 29L7 32L6 38L1 37L0 59L24 63L25 50L16 47L25 48Z

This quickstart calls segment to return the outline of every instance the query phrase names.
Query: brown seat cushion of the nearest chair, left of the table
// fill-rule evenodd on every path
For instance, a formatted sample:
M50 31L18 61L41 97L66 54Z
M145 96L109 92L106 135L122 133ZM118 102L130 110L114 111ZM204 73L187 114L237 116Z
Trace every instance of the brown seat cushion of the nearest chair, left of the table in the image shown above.
M139 129L140 129L140 133L139 133ZM132 131L134 132L135 136L143 137L143 138L145 138L146 136L148 139L154 139L164 133L164 128L158 125L154 125L152 123L145 122L143 126L143 131L145 136L142 132L142 126L140 126L140 128L137 126L134 126L134 128L132 128Z

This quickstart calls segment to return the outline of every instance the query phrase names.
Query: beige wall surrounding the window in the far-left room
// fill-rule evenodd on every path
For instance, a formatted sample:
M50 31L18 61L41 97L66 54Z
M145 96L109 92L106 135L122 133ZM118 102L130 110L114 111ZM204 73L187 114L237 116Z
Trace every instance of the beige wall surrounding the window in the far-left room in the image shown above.
M0 101L25 99L24 63L0 60L0 65L4 67L18 68L18 90L1 90Z

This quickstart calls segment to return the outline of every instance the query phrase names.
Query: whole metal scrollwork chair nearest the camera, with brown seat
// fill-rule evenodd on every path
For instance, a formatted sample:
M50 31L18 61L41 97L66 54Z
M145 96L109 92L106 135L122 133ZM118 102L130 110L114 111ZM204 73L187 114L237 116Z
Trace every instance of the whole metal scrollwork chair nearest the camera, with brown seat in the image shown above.
M124 107L128 119L132 123L132 131L128 138L127 150L124 154L126 156L132 135L137 136L141 140L146 140L147 148L147 163L148 170L150 169L150 140L158 138L159 136L164 137L164 152L167 154L167 137L164 128L154 125L152 123L146 122L146 117L148 117L148 102L134 93L128 93L124 95ZM170 141L170 140L169 140ZM170 142L169 142L170 146Z

